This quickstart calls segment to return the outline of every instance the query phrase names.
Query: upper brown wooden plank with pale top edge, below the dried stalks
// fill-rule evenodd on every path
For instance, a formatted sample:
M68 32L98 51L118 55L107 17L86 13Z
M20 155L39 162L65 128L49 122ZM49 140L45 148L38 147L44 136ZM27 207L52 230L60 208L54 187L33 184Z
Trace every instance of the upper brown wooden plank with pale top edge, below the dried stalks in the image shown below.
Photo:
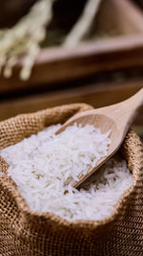
M53 82L71 81L91 76L101 71L112 71L143 65L143 36L123 36L106 39L102 44L82 44L76 49L45 49L40 54L33 68L29 81L17 78L19 68L15 68L10 80L0 79L0 93L35 88L49 87Z

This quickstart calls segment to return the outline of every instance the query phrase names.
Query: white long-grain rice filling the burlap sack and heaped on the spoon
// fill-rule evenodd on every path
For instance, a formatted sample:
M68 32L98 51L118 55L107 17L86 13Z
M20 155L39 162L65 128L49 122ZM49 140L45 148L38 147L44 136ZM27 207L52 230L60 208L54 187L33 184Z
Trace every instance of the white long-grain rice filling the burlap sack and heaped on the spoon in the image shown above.
M85 189L73 189L72 183L107 155L110 131L101 134L99 128L75 124L55 135L60 127L45 128L0 151L10 165L8 175L32 211L55 213L69 221L102 220L132 184L132 175L125 161L111 159Z

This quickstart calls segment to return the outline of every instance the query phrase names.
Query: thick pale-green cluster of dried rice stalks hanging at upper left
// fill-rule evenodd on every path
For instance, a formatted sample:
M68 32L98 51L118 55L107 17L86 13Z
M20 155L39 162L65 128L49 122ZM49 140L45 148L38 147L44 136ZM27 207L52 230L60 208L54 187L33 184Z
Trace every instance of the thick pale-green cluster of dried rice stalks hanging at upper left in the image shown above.
M46 26L51 21L54 0L41 0L9 30L0 31L0 71L9 78L17 59L25 56L20 72L22 80L29 79L31 68L39 52L39 43L45 38Z

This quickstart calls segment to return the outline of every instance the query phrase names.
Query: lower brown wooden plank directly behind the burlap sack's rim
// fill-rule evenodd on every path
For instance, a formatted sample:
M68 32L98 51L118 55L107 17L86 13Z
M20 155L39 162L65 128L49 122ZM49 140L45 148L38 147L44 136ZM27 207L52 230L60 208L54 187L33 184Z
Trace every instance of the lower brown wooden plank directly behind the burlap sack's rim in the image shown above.
M112 105L131 97L143 86L143 79L120 83L104 82L79 88L23 97L0 104L0 120L20 113L37 111L55 105L87 103L94 107ZM136 124L143 124L143 109Z

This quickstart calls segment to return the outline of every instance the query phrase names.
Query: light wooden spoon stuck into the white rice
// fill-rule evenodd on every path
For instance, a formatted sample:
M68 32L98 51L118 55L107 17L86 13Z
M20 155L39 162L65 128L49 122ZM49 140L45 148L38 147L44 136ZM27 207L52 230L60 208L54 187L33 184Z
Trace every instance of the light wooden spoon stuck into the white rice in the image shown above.
M81 175L79 181L73 183L73 187L76 188L85 181L119 149L141 105L143 105L143 88L133 97L119 104L76 114L56 131L56 134L59 134L74 123L81 124L82 127L93 125L95 128L100 128L102 133L107 132L109 129L112 130L110 134L112 143L109 147L108 155L102 157L94 168L89 169L86 175Z

